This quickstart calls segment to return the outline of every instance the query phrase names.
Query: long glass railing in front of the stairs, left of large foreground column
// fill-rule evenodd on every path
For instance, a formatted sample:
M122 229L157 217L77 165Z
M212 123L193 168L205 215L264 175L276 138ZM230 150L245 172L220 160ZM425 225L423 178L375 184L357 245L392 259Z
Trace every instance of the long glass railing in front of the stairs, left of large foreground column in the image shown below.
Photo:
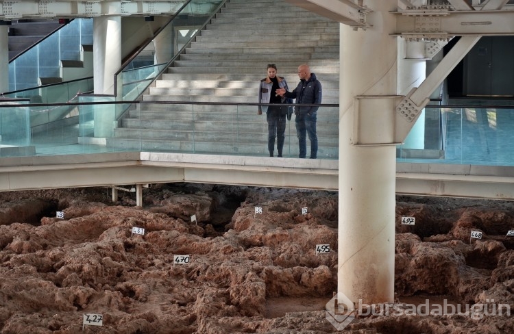
M33 155L149 151L269 157L269 125L273 117L267 112L258 114L257 104L113 100L114 97L80 95L79 103L68 105L28 105L14 111L6 108L0 115L2 140L31 146ZM116 119L119 107L127 112ZM63 114L64 109L68 112L65 118L53 116ZM337 158L338 112L338 107L319 107L319 159ZM38 117L34 115L50 121L36 122ZM295 118L294 114L290 120L282 116L284 158L298 157ZM308 136L306 142L309 154ZM277 146L275 138L274 157L278 155Z

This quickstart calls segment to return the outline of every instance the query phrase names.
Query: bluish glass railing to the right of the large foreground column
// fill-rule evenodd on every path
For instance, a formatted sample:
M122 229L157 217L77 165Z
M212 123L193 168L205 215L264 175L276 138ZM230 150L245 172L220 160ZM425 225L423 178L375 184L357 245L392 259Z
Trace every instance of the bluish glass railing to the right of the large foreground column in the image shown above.
M424 136L425 147L398 146L397 162L514 166L514 108L450 106L427 111L424 132L415 133Z

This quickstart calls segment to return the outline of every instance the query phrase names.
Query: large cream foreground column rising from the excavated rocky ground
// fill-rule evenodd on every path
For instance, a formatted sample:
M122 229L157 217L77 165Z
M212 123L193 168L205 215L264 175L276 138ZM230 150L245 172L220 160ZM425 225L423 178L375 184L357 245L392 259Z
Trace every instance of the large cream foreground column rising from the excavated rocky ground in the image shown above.
M396 94L397 43L389 35L395 27L389 11L396 4L397 0L365 1L374 11L368 16L373 27L366 31L341 25L337 283L338 295L357 304L359 300L371 304L394 299L395 144L354 144L356 125L376 127L374 113L381 118L389 113L393 118L394 103L367 110L363 117L354 110L354 97Z

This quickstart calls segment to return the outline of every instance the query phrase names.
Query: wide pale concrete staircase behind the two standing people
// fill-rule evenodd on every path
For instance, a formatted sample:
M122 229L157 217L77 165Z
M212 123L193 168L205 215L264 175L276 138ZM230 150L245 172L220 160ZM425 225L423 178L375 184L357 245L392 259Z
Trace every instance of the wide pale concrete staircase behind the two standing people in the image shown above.
M282 0L230 0L169 67L136 110L121 119L112 149L267 155L266 115L257 105L267 64L293 90L308 63L323 86L322 103L339 103L339 23ZM157 103L151 103L151 102ZM174 104L162 101L175 101ZM284 157L298 156L295 116L287 122ZM339 108L321 107L319 158L336 158ZM309 150L309 144L308 144Z

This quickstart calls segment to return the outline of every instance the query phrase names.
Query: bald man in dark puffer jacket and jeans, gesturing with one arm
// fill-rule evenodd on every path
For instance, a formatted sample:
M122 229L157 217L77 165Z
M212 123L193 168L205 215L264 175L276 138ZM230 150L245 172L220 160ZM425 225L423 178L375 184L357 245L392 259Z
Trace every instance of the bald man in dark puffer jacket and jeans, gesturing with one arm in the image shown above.
M276 90L276 94L288 99L296 99L295 124L299 144L299 157L305 158L307 154L306 134L310 140L310 159L316 159L318 153L318 138L316 134L316 118L318 107L304 104L321 103L321 83L314 73L310 73L307 64L298 66L300 82L293 92L284 88Z

